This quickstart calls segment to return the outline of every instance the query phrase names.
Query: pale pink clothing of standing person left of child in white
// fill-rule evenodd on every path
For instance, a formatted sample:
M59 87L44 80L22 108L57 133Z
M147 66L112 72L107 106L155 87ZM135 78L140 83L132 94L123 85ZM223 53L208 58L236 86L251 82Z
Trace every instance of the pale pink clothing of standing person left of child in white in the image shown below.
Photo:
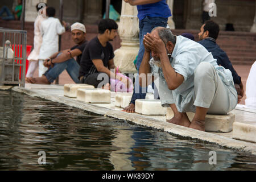
M40 26L45 19L46 18L42 15L38 15L38 17L36 17L36 20L34 23L34 49L27 58L27 60L29 61L38 60L40 47L42 45L42 33L40 31Z

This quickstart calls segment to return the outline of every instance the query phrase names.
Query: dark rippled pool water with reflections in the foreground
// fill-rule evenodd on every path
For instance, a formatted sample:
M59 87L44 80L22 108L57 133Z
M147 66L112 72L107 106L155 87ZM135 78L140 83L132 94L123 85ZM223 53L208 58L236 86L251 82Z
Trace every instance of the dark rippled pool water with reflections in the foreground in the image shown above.
M1 91L0 105L0 170L256 170L255 156L40 98Z

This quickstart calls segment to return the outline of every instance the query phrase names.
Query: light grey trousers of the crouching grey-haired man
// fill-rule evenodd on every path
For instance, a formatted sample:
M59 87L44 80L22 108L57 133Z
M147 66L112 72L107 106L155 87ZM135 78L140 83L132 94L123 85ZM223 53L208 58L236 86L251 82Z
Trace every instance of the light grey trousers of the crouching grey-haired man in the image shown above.
M195 112L197 107L209 108L209 114L226 114L237 105L237 92L233 82L225 84L214 66L200 63L194 72L194 86L188 89L186 97L168 89L166 80L159 77L159 96L162 106L175 104L180 112ZM179 98L174 98L179 97Z

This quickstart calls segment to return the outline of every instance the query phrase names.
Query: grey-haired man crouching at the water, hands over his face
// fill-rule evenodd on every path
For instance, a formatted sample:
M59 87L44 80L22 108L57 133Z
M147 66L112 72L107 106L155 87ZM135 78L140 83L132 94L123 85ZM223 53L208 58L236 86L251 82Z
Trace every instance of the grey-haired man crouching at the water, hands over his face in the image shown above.
M226 114L236 107L238 96L231 72L220 67L199 43L157 27L144 36L144 46L139 74L159 75L162 106L174 111L174 118L167 122L205 131L207 113ZM192 122L188 111L195 113Z

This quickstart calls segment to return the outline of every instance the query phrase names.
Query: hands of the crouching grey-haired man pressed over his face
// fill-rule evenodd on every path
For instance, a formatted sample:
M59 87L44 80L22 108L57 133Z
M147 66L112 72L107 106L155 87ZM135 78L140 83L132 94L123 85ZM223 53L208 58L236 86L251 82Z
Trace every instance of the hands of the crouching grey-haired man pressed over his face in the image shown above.
M163 40L157 38L155 35L152 36L149 33L144 35L143 44L145 46L145 49L154 51L159 54L166 51Z

